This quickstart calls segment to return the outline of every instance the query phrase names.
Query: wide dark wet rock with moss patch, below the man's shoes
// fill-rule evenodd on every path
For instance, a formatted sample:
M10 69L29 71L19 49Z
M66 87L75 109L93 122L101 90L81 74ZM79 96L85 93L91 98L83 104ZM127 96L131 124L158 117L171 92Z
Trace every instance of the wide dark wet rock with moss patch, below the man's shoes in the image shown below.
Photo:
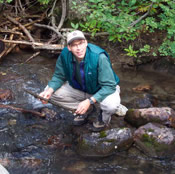
M114 128L98 133L83 134L77 152L84 157L105 157L128 149L133 143L129 128Z

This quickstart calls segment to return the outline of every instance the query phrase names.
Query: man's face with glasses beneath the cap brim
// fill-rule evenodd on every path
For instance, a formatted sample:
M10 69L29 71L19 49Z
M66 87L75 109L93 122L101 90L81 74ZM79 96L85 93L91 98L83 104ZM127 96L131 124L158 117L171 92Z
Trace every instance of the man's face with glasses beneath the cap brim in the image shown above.
M87 40L74 40L68 45L69 51L78 59L83 60L86 54Z

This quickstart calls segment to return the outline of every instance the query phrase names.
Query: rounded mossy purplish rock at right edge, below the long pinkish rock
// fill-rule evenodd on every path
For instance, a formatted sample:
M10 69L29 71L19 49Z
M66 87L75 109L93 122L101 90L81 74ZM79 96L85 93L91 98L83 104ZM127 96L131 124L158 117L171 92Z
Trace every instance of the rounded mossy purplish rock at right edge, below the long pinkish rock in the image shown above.
M158 123L148 123L134 132L136 145L148 156L167 158L175 153L175 130Z

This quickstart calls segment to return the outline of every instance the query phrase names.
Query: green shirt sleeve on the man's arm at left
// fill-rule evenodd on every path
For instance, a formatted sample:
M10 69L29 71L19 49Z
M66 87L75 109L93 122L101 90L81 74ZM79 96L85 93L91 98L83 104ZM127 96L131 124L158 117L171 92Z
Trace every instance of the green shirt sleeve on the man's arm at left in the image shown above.
M59 56L55 66L55 72L52 76L52 79L49 81L48 86L56 91L63 85L65 81L66 76L62 65L61 56Z

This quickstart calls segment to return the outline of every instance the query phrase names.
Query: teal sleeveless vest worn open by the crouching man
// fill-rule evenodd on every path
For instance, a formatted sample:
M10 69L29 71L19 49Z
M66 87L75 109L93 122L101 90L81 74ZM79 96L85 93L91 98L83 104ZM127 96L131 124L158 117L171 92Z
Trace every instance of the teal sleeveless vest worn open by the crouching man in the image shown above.
M84 58L84 73L85 73L85 87L86 87L85 92L89 94L95 94L100 89L100 85L98 84L98 60L99 55L101 53L104 53L108 57L108 60L110 62L109 55L105 50L96 45L90 43L88 44L86 49L86 56ZM73 55L72 52L70 52L67 47L65 47L61 53L61 60L64 66L66 78L68 79L69 84L72 87L74 87L72 83ZM114 76L118 84L120 80L115 73Z

